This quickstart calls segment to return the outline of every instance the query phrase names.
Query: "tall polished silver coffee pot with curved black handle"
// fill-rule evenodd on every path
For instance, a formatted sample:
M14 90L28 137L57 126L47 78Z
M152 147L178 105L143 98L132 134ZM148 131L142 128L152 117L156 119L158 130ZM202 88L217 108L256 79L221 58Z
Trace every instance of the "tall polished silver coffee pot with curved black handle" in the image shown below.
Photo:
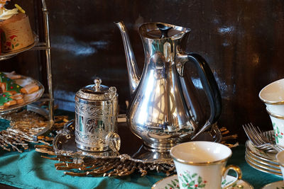
M138 32L143 42L145 64L142 75L136 65L129 36L122 21L121 31L129 73L131 103L126 114L131 131L143 139L149 151L169 151L175 144L194 139L211 127L222 109L221 96L207 62L194 53L185 53L180 41L190 32L168 23L143 23ZM210 105L210 116L198 125L196 89L184 79L185 63L197 67Z

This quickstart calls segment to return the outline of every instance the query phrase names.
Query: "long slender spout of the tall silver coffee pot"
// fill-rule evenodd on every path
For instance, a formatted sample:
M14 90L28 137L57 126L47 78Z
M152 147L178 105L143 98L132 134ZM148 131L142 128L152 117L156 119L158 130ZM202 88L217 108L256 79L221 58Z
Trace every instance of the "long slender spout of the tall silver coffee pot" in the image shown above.
M121 32L122 40L124 42L124 51L126 56L126 63L127 63L127 71L129 74L129 87L131 97L133 93L136 91L136 88L140 81L140 73L136 64L136 59L133 54L133 50L131 47L131 43L129 40L129 35L127 34L126 27L123 21L114 22Z

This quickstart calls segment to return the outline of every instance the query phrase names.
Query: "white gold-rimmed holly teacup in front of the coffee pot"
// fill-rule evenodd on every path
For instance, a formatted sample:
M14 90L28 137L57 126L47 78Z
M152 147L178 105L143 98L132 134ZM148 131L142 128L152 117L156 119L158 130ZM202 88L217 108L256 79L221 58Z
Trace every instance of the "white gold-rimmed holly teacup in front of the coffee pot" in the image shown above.
M216 142L185 142L170 149L178 174L180 188L221 188L222 178L229 170L236 172L234 185L241 179L241 169L237 166L226 166L232 152L229 147Z

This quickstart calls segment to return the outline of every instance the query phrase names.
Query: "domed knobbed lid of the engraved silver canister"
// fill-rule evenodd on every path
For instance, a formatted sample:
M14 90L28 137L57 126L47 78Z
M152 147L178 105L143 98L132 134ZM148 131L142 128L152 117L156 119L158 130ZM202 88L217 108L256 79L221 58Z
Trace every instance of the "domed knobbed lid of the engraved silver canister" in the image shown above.
M116 95L114 86L108 87L101 85L102 79L94 79L94 84L84 86L77 93L78 98L88 101L108 101Z

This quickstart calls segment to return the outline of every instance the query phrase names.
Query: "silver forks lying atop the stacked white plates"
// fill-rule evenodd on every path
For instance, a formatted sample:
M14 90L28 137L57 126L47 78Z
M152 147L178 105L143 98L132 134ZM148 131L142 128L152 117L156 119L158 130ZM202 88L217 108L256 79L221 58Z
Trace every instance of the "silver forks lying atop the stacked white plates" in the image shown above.
M251 143L258 149L263 149L263 150L274 149L276 151L283 151L282 147L279 147L271 143L258 127L254 127L251 123L249 123L247 125L246 124L243 125L243 128L244 132L246 132L246 136L249 137Z

